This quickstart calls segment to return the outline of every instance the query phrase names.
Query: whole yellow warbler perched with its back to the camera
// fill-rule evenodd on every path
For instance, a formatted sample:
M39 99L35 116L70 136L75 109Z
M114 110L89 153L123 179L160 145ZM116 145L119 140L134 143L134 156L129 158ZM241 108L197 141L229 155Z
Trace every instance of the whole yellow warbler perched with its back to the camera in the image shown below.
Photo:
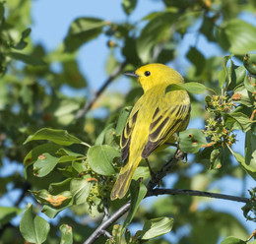
M170 84L182 84L182 76L163 64L142 66L135 72L144 94L134 105L121 135L121 160L125 161L112 189L110 199L121 199L127 193L133 174L143 158L167 142L173 134L187 128L190 99L187 91L169 91Z

